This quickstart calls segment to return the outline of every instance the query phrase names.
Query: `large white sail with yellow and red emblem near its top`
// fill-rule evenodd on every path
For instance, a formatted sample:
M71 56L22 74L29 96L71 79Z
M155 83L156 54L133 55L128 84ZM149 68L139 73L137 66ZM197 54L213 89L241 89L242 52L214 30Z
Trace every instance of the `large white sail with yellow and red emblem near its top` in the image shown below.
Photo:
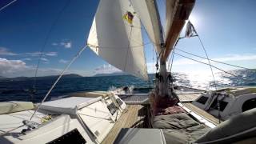
M129 0L99 2L87 45L119 70L148 79L141 23Z

